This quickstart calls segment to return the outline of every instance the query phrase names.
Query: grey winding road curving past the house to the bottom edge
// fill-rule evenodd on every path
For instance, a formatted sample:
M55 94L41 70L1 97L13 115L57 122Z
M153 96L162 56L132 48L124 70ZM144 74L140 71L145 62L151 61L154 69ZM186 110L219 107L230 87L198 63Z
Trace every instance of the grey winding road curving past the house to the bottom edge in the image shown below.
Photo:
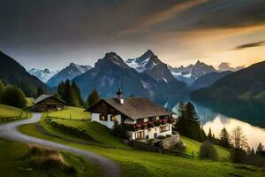
M30 124L39 121L42 118L42 114L34 113L33 118L25 119L20 121L11 122L0 126L0 137L9 139L16 142L31 142L35 144L42 145L47 148L55 148L58 150L65 150L72 152L76 155L83 156L89 161L96 165L102 166L104 177L120 177L121 169L119 165L108 158L104 158L93 152L87 150L79 150L78 148L73 148L71 146L63 145L57 142L49 142L47 140L42 140L30 135L24 135L19 132L18 127L25 124Z

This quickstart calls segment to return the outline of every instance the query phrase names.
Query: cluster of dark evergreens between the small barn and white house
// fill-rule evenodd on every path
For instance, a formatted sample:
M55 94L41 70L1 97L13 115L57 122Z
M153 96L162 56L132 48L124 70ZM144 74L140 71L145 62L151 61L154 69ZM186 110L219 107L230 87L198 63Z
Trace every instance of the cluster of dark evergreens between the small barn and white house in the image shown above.
M39 93L39 90L38 90ZM41 93L41 90L40 90ZM86 107L95 104L100 100L100 96L96 89L87 96L87 102L85 102L80 94L80 89L75 81L72 83L69 80L62 81L57 88L58 96L66 102L67 105L75 107Z

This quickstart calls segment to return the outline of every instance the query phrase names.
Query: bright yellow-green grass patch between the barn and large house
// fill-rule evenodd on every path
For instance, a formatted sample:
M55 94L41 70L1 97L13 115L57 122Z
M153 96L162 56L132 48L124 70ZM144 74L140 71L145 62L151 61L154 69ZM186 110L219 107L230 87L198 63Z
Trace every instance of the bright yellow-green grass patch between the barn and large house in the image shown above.
M84 112L82 108L65 106L64 110L58 112L48 112L50 117L58 117L64 119L90 119L90 113Z

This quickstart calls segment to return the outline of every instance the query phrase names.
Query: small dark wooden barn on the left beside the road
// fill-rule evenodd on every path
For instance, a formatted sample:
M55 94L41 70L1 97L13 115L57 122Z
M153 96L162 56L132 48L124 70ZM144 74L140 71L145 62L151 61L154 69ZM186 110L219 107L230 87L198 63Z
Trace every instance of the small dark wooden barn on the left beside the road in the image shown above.
M64 109L65 102L56 96L42 94L34 100L34 112L59 111Z

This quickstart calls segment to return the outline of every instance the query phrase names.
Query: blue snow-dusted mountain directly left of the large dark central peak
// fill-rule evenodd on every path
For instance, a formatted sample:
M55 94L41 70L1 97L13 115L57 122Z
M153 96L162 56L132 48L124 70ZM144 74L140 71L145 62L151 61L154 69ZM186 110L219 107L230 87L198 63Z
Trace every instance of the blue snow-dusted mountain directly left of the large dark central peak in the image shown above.
M56 87L61 81L72 80L73 78L79 76L82 73L86 73L92 67L90 65L76 65L71 63L63 70L55 74L53 77L46 82L49 87Z

